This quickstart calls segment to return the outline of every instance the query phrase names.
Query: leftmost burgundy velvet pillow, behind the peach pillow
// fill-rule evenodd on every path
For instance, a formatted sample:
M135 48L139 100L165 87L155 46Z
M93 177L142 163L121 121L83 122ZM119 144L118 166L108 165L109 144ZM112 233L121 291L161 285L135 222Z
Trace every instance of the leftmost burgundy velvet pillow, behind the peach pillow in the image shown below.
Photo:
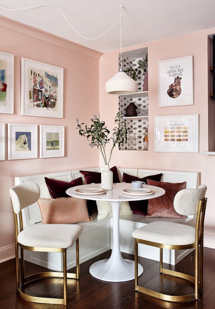
M48 187L50 196L55 199L59 197L69 197L69 195L66 194L67 189L83 184L82 177L74 179L70 182L45 177L45 182ZM87 210L89 215L92 214L92 209L95 207L96 201L87 200Z

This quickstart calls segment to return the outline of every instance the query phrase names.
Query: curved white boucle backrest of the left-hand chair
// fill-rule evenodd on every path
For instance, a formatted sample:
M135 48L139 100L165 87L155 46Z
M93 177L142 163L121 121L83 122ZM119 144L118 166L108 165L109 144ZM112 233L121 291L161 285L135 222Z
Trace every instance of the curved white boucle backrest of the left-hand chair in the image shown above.
M39 200L39 186L33 181L18 184L17 186L10 188L10 197L14 213L19 214L23 208Z

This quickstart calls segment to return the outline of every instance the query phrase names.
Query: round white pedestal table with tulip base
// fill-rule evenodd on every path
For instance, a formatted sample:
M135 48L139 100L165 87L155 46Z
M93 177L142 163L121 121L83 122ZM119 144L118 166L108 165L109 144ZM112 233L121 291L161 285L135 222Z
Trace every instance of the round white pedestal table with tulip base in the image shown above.
M101 184L86 184L86 188L101 188ZM119 243L119 212L122 201L141 201L162 196L165 190L155 186L147 185L146 188L155 190L152 195L129 196L122 192L123 189L131 188L131 184L119 183L113 185L113 190L101 195L80 195L75 190L83 188L83 185L69 188L66 193L72 197L93 200L110 201L113 212L113 248L110 259L100 260L90 266L90 273L93 277L110 282L122 282L134 279L134 261L123 259ZM143 273L143 267L138 264L138 276Z

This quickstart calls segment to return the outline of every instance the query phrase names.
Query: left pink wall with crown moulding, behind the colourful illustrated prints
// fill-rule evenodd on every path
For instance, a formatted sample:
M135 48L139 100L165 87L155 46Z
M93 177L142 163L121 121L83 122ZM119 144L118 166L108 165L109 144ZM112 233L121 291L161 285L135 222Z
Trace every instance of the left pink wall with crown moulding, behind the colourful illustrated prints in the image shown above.
M0 50L14 54L14 115L0 114L0 122L65 126L64 158L0 161L2 261L14 255L14 222L9 196L14 176L99 166L98 151L95 148L89 151L88 142L74 129L76 117L84 122L98 114L99 58L102 54L2 17L0 31ZM21 57L64 68L63 119L20 116Z

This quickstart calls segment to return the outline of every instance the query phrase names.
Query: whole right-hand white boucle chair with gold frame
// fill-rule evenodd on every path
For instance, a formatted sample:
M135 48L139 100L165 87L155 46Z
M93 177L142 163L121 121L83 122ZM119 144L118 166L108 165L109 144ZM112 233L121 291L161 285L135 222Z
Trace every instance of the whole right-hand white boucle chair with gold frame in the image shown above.
M203 293L203 233L207 198L207 187L200 185L198 189L184 189L179 191L174 198L174 208L182 215L194 215L196 226L157 221L133 231L135 244L135 290L169 302L190 302L199 298ZM138 243L160 248L160 273L183 278L195 284L195 293L190 295L172 296L155 292L142 286L138 286ZM200 246L200 263L199 263ZM163 248L184 250L195 248L195 277L185 273L163 268ZM200 264L200 276L199 276ZM144 272L143 272L144 276ZM200 277L200 280L199 280Z

